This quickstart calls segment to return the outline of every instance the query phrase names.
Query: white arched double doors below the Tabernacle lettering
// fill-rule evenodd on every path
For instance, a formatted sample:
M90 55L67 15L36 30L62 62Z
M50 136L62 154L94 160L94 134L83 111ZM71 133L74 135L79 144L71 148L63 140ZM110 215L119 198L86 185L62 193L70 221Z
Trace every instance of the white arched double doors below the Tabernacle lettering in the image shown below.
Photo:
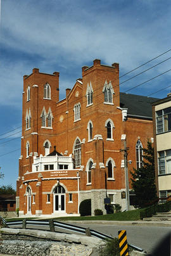
M61 185L56 186L53 191L53 212L65 213L65 188Z

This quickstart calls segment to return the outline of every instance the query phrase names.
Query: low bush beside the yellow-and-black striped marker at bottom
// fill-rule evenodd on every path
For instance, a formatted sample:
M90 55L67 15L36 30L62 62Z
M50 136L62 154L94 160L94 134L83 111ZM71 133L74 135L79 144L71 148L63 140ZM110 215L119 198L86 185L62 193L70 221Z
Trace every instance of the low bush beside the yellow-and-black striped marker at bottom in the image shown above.
M107 239L106 245L99 248L99 256L120 256L118 238Z

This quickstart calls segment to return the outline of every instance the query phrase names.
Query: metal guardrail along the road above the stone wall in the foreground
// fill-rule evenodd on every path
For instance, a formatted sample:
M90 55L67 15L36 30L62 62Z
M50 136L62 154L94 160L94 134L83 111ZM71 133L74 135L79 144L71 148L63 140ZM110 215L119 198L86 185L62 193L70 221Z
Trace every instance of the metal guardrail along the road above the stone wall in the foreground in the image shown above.
M55 227L58 227L59 229L65 229L68 231L74 231L77 233L81 233L81 234L86 234L87 228L85 227L79 227L76 225L71 225L68 223L63 223L63 222L59 222L59 221L53 221L51 219L49 220L44 220L44 221L37 221L37 220L28 220L28 219L23 219L18 220L18 221L6 221L5 219L3 219L3 217L0 216L0 220L1 222L3 222L4 226L6 227L11 227L11 226L21 226L22 228L27 229L27 225L28 226L33 226L32 229L39 229L39 227L41 227L40 229L42 230L42 227L49 227L50 231L54 231L55 232ZM14 227L15 228L15 227ZM47 230L47 229L44 229ZM106 240L106 239L113 239L112 236L108 236L108 234L103 234L100 233L98 231L95 231L94 229L89 229L89 232L91 233L91 236L94 236L96 238L100 238L102 240ZM130 248L137 250L139 252L144 252L143 249L134 246L134 245L130 245Z

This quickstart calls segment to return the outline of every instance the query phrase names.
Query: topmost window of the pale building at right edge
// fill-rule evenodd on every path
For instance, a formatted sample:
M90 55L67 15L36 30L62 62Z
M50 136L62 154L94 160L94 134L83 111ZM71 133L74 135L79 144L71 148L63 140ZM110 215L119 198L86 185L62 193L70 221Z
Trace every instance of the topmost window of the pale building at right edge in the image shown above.
M156 133L171 131L171 107L156 112Z

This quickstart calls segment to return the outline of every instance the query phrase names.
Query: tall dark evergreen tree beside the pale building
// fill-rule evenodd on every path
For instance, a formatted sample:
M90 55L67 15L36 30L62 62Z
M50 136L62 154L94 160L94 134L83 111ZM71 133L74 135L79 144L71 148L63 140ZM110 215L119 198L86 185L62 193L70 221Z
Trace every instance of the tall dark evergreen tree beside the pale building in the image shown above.
M143 208L157 199L155 185L155 157L154 148L148 141L147 148L143 148L143 165L134 169L132 174L132 189L136 194L134 207Z

